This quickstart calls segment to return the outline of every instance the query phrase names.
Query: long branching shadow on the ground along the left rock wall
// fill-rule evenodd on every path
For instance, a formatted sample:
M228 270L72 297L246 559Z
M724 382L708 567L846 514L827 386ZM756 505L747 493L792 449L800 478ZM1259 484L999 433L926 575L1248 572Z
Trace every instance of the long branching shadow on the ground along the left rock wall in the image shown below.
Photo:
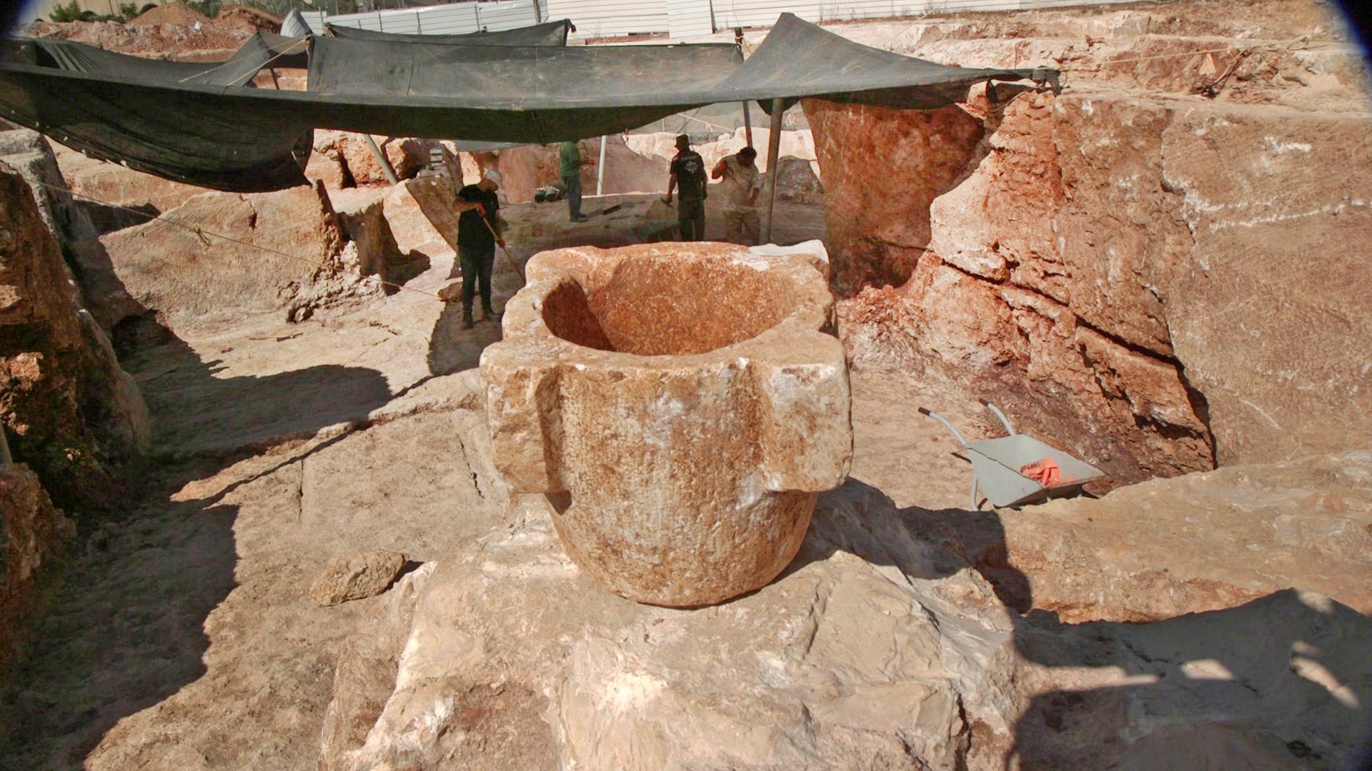
M187 483L254 446L362 424L391 399L386 379L365 368L218 377L220 362L202 361L148 316L117 327L115 346L147 399L165 465L150 468L141 499L122 501L119 519L88 534L85 556L36 621L0 704L0 752L15 767L81 767L102 738L117 741L108 737L121 719L206 675L211 612L236 586L239 508L221 501L269 472L207 499L178 498Z

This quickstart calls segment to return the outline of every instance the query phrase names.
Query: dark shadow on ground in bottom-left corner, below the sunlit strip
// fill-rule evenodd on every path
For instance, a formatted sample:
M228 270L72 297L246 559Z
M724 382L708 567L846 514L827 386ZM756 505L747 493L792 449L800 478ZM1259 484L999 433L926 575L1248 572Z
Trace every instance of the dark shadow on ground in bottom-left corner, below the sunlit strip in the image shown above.
M204 675L206 617L236 586L236 514L163 505L155 520L136 514L91 535L34 626L33 653L7 678L7 768L80 768L122 717Z

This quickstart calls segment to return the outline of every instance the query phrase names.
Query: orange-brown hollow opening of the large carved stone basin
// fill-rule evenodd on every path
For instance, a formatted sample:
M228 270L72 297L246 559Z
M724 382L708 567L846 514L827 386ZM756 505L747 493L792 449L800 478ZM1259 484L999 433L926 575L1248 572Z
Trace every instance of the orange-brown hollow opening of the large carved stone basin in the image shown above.
M789 280L722 258L635 258L568 278L543 300L564 340L602 351L689 355L771 329L796 306Z

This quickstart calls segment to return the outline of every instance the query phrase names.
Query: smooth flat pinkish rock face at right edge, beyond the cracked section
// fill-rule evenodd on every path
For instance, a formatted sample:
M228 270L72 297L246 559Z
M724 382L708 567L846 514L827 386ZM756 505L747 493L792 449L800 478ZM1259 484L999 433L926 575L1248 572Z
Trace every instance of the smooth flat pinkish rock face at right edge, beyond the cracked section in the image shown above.
M1168 328L1221 464L1372 436L1372 121L1176 110L1162 184L1195 241Z

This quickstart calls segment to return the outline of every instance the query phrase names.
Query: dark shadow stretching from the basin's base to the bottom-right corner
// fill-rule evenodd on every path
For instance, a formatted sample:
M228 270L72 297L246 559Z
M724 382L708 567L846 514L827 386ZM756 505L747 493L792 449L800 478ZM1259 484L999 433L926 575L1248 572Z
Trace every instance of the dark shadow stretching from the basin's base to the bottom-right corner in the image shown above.
M996 512L897 509L859 480L820 497L783 576L840 550L911 582L971 569L991 583L1024 669L1006 768L1362 767L1372 619L1328 597L1066 624L1033 609Z

